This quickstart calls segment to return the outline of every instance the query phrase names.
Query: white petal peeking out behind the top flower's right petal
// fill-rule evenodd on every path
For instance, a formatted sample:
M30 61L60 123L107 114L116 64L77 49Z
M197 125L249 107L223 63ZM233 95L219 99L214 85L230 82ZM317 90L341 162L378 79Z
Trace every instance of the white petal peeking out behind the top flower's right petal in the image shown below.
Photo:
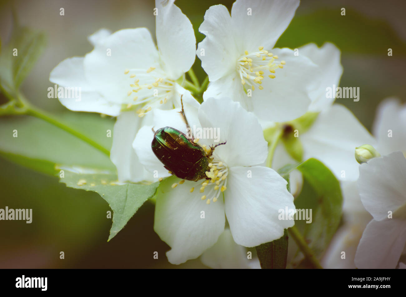
M326 98L326 88L333 88L333 84L339 86L340 77L343 74L341 65L341 52L333 44L326 42L322 47L317 47L315 43L309 43L298 48L299 55L310 58L320 67L322 80L320 87L311 92L312 103L310 111L322 111L333 104L334 99Z

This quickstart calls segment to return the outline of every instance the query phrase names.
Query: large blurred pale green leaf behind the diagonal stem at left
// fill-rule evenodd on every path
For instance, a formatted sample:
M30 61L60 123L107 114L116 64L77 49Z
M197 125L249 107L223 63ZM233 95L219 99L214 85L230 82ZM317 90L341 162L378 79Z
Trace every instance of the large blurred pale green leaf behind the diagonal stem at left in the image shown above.
M112 138L106 131L113 131L114 119L101 118L97 114L64 112L57 115L61 120L82 134L92 138L106 148L110 148ZM17 130L17 137L13 131ZM48 122L31 116L0 118L0 152L9 155L11 161L32 169L54 174L46 166L39 168L44 161L65 166L82 166L106 169L115 172L115 166L104 153ZM17 158L21 160L17 161ZM26 163L27 159L30 162ZM37 165L34 165L37 163Z

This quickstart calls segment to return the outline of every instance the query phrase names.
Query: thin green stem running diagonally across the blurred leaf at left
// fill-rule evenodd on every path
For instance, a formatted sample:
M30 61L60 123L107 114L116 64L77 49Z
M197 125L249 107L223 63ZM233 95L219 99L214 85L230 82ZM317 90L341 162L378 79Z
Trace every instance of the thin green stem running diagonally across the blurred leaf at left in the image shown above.
M95 142L94 140L91 140L87 136L84 136L83 134L79 133L75 129L72 129L71 127L69 127L69 126L67 126L67 125L65 125L63 123L60 123L60 121L58 121L58 119L56 119L51 114L48 114L44 110L40 110L38 108L35 108L33 106L28 105L28 108L26 110L26 114L28 114L30 116L35 116L37 118L41 118L42 120L47 121L48 123L60 128L60 129L63 129L65 131L67 131L68 133L72 134L73 136L76 136L77 138L83 140L84 142L87 142L88 144L90 144L94 148L97 148L99 151L106 154L107 156L110 156L110 151L108 149L104 148L103 146L101 146L100 144Z

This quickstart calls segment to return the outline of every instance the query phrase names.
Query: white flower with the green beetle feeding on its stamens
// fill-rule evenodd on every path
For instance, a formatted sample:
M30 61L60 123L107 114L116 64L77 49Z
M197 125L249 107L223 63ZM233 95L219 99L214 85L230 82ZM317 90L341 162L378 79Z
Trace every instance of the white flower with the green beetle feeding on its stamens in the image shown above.
M208 99L197 111L187 110L191 127L218 128L215 148L207 176L200 181L162 181L155 207L155 232L171 246L171 263L197 258L214 245L225 228L225 215L235 243L253 247L278 239L293 220L279 220L278 210L294 209L287 182L271 168L255 166L267 156L267 144L256 117L230 99ZM170 126L186 133L179 113L154 110L154 129ZM160 176L168 171L151 149L152 127L138 131L134 148L145 168ZM201 146L216 144L201 139ZM201 218L202 211L204 218Z

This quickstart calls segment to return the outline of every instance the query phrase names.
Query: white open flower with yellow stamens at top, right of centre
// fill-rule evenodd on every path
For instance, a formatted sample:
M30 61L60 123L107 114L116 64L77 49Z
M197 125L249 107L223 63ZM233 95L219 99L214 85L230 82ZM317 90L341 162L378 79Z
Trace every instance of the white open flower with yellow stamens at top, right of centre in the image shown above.
M203 99L230 97L263 120L304 114L320 84L319 68L300 51L274 48L298 5L298 0L237 0L231 15L223 5L211 6L197 49L210 81Z

